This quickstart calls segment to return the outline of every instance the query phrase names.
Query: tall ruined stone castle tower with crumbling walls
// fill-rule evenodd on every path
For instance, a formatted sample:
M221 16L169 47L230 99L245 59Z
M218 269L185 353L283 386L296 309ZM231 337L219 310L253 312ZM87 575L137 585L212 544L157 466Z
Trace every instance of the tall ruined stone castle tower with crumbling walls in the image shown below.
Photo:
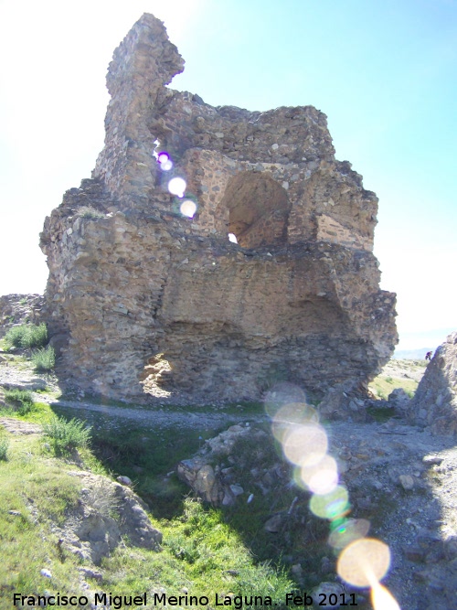
M322 112L214 108L166 87L183 67L143 15L109 67L92 177L45 221L59 375L175 402L366 383L397 341L372 253L376 195L335 160Z

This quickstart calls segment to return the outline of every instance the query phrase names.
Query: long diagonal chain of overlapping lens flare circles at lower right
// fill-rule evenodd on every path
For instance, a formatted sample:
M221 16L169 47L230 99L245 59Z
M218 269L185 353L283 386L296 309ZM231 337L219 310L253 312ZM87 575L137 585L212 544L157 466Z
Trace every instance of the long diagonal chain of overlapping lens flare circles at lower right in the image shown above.
M395 598L379 581L388 573L390 550L380 540L366 538L367 519L347 519L349 494L338 485L338 466L328 451L328 435L319 424L319 413L304 392L292 383L277 384L266 396L274 437L293 464L293 480L311 491L310 510L330 521L329 544L341 551L337 573L346 583L371 587L375 610L400 610Z

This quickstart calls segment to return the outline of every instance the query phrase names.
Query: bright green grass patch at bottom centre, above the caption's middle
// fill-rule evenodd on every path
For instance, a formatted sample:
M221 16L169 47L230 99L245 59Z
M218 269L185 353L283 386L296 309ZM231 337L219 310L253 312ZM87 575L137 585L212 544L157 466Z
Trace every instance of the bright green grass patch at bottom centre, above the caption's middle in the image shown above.
M256 564L237 532L224 522L222 511L186 499L182 516L162 520L158 527L164 534L160 555L143 555L145 561L139 562L137 553L132 556L119 547L103 561L103 581L110 591L121 594L128 586L129 591L182 594L186 588L189 594L207 595L210 605L215 593L219 599L226 594L270 595L282 608L285 594L293 589L284 573L268 563Z

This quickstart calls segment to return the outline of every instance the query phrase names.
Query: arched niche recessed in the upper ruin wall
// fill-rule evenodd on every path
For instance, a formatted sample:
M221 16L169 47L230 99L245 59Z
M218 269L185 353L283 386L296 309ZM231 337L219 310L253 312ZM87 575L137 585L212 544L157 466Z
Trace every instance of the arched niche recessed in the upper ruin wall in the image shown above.
M287 192L270 176L237 174L228 181L220 206L228 209L228 233L233 233L243 248L287 241L291 204Z

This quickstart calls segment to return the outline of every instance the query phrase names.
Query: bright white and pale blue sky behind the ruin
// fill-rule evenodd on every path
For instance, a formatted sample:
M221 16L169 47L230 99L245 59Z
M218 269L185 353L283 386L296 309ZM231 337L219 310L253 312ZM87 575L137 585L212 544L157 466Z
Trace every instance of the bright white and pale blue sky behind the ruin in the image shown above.
M172 87L249 110L312 104L379 197L400 348L457 329L457 0L0 0L0 294L42 293L38 233L103 145L105 74L153 13Z

